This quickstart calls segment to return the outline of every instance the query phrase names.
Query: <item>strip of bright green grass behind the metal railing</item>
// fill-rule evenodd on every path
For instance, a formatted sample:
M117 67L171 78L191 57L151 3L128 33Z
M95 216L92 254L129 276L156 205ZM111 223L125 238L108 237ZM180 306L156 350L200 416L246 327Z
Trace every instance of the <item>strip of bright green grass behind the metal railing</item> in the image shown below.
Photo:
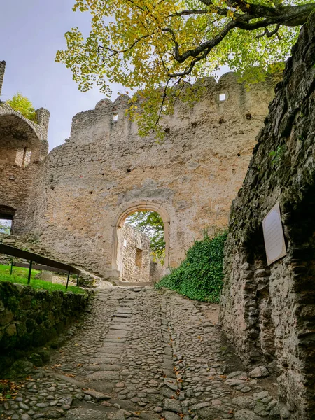
M11 283L27 285L29 269L22 267L13 267L12 275L10 275L10 268L10 265L0 265L0 281L10 281ZM38 273L39 271L36 269L31 270L31 283L29 284L29 286L31 286L32 288L50 290L50 292L52 292L53 290L62 290L62 292L67 291L73 293L85 293L84 290L76 286L69 286L66 289L66 286L62 286L62 284L54 284L49 283L48 281L35 279L35 276Z

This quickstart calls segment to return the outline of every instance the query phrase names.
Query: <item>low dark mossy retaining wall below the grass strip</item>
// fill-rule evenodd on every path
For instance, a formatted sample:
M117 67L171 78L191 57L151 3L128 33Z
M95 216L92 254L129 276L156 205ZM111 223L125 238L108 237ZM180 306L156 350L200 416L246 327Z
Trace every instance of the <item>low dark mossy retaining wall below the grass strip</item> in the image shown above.
M29 351L57 337L83 313L87 301L84 294L1 282L0 370L14 360L16 350Z

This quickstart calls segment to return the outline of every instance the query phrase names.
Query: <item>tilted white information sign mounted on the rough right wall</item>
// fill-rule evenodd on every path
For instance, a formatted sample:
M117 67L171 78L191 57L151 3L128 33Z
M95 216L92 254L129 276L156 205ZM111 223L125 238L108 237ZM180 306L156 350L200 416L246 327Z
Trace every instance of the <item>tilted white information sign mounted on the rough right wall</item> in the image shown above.
M264 232L267 264L270 265L286 255L279 202L272 207L262 221L262 230Z

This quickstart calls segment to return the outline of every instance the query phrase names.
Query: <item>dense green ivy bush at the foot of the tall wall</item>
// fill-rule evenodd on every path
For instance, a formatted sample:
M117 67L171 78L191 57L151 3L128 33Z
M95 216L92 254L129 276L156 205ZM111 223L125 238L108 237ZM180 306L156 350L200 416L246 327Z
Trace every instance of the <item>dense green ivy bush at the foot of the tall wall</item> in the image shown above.
M194 300L219 302L223 285L223 254L227 232L195 241L181 265L163 277L155 288L176 290Z

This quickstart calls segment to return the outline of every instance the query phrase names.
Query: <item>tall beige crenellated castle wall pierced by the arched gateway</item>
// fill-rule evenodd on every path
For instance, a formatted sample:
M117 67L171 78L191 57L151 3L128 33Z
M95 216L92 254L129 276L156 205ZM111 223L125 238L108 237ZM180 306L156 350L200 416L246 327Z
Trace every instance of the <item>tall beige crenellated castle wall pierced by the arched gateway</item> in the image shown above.
M218 83L206 78L193 107L179 102L174 116L165 117L161 144L154 134L139 138L125 116L129 97L104 99L78 113L69 141L40 165L25 231L38 235L55 258L119 276L118 220L139 206L163 209L166 266L176 267L204 228L211 235L228 223L275 82L269 76L246 88L234 73Z

